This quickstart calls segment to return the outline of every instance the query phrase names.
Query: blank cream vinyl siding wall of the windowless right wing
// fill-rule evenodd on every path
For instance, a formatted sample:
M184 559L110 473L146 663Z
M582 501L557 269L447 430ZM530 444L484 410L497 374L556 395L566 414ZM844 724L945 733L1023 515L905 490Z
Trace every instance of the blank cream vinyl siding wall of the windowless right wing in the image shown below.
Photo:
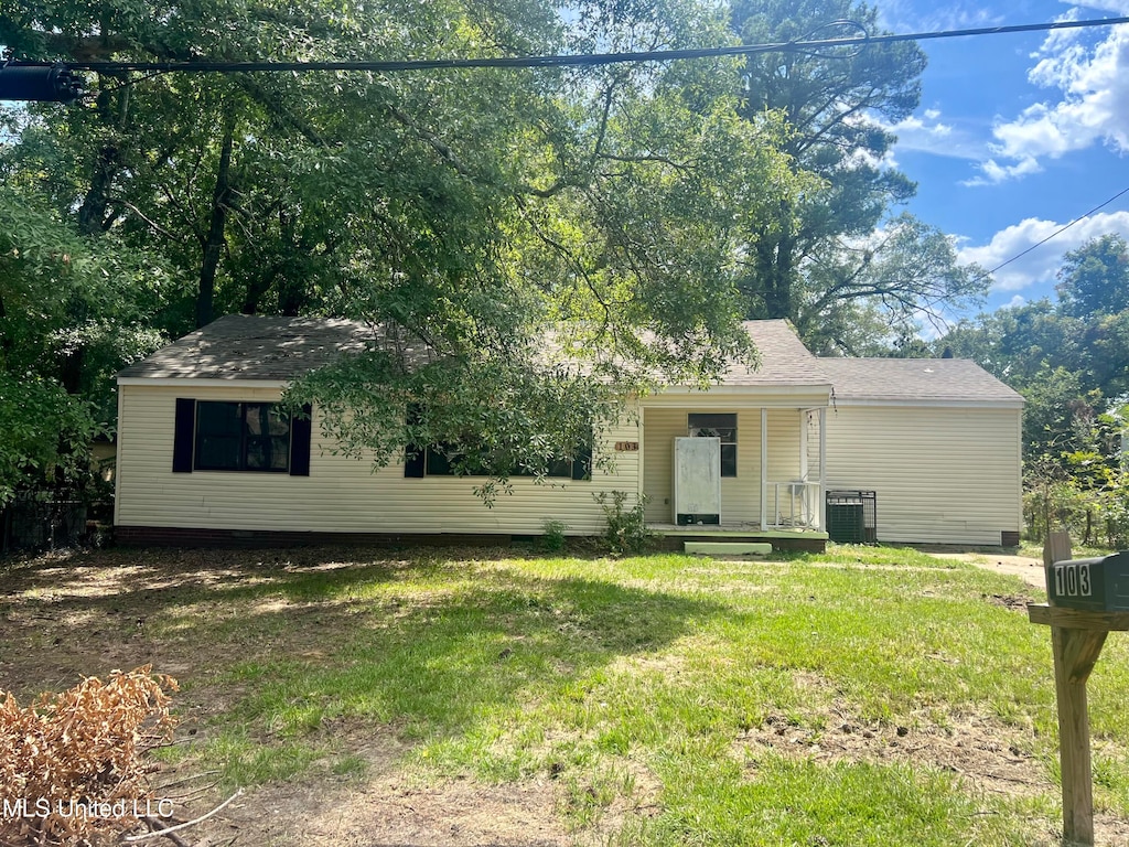
M1023 521L1019 414L840 402L828 411L828 488L876 492L881 542L999 544Z

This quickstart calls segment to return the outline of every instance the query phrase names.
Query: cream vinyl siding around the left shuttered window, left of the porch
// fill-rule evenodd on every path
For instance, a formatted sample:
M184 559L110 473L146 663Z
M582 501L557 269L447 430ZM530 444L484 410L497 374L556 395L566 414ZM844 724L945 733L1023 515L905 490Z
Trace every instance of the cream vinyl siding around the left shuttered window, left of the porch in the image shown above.
M217 530L277 530L356 533L537 534L545 521L561 521L570 533L603 530L604 515L593 499L601 490L638 492L639 453L615 453L615 474L593 469L593 479L510 481L492 508L472 489L481 480L404 477L402 459L374 472L369 462L332 455L314 412L309 477L277 473L194 471L173 473L176 398L195 400L278 400L277 387L228 387L184 381L181 385L119 386L121 429L117 447L115 523L122 526L175 526ZM638 442L628 418L597 437L596 454L618 440Z

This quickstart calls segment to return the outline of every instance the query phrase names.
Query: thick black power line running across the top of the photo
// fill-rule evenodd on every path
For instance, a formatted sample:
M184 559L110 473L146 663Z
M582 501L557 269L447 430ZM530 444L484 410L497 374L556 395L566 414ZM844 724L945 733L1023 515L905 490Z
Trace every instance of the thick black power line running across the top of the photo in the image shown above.
M835 21L844 26L860 28L854 21ZM980 27L977 29L945 29L901 35L855 35L843 38L821 38L816 41L793 41L774 44L739 44L728 47L703 50L651 50L628 53L594 53L577 55L501 56L480 59L404 59L404 60L347 60L325 62L240 62L240 61L191 61L191 62L65 62L73 70L122 72L158 71L186 73L237 73L250 71L307 72L307 71L370 71L391 73L418 70L461 70L470 68L593 68L628 62L673 62L680 59L716 59L734 55L756 55L760 53L802 53L829 47L863 47L872 44L894 44L907 41L929 41L959 38L979 35L1007 35L1012 33L1050 32L1053 29L1079 29L1095 26L1129 24L1129 17L1094 18L1089 20L1060 20L1044 24L1022 24L1014 26Z

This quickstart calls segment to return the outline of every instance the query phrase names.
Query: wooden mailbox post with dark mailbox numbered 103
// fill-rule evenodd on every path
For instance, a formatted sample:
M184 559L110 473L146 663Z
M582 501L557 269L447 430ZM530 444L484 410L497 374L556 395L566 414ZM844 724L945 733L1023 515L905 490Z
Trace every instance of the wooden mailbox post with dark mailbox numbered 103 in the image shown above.
M1050 545L1048 548L1050 550ZM1069 545L1066 548L1069 557ZM1105 636L1129 630L1129 552L1099 559L1047 560L1049 604L1031 604L1032 623L1051 628L1062 770L1062 840L1094 844L1086 681Z

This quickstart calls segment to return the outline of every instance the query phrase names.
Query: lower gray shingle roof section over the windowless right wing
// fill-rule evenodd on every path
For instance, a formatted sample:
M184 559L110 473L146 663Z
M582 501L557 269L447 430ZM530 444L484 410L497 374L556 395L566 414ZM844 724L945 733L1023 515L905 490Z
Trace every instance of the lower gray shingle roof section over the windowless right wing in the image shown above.
M991 401L1023 398L969 359L820 359L839 400Z

